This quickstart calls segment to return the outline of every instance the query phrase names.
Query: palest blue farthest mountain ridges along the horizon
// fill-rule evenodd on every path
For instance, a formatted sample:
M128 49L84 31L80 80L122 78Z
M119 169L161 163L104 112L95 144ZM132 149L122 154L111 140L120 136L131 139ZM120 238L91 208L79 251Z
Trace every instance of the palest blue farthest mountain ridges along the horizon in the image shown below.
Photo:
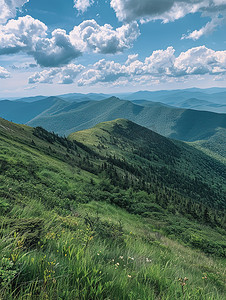
M124 100L146 100L161 102L166 105L190 108L195 110L226 113L226 88L199 89L190 88L182 90L138 91L135 93L103 94L103 93L70 93L56 95L67 102L100 101L111 96ZM17 101L34 102L48 97L35 96L17 99ZM12 100L12 99L11 99ZM15 101L15 99L14 99Z

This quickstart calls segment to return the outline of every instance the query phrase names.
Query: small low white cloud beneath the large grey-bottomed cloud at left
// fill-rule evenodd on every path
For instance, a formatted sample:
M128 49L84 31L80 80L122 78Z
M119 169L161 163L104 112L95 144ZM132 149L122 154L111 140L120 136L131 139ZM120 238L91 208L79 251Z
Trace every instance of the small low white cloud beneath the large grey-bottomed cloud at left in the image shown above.
M43 70L41 72L36 72L29 78L30 84L36 83L48 83L52 84L54 79L58 80L60 84L71 84L74 82L75 78L84 70L82 65L69 64L61 68L51 68L48 70Z

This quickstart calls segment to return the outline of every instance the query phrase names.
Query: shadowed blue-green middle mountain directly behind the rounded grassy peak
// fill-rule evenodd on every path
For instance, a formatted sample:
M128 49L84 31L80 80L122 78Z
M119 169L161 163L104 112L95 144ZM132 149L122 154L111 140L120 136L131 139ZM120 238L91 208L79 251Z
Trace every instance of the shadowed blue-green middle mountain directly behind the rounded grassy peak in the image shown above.
M129 119L159 134L184 141L209 138L218 127L226 128L225 114L176 109L164 105L145 107L115 97L85 102L66 112L38 117L28 124L68 135L116 118Z

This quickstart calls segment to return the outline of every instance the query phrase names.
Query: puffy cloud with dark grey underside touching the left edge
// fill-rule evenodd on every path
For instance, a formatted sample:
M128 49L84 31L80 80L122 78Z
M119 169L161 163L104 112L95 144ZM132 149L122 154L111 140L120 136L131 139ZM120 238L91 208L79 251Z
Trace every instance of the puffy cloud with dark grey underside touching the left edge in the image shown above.
M44 23L31 16L10 20L0 26L0 54L24 51L45 67L67 64L81 55L81 46L72 45L65 30L54 30L51 38L47 30Z

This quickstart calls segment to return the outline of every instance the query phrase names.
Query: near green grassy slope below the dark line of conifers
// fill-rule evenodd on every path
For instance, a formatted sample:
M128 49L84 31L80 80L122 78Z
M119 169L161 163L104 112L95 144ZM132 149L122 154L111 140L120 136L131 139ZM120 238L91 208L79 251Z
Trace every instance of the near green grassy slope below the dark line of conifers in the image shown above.
M224 299L222 227L113 186L78 144L4 126L13 133L0 128L1 300Z

